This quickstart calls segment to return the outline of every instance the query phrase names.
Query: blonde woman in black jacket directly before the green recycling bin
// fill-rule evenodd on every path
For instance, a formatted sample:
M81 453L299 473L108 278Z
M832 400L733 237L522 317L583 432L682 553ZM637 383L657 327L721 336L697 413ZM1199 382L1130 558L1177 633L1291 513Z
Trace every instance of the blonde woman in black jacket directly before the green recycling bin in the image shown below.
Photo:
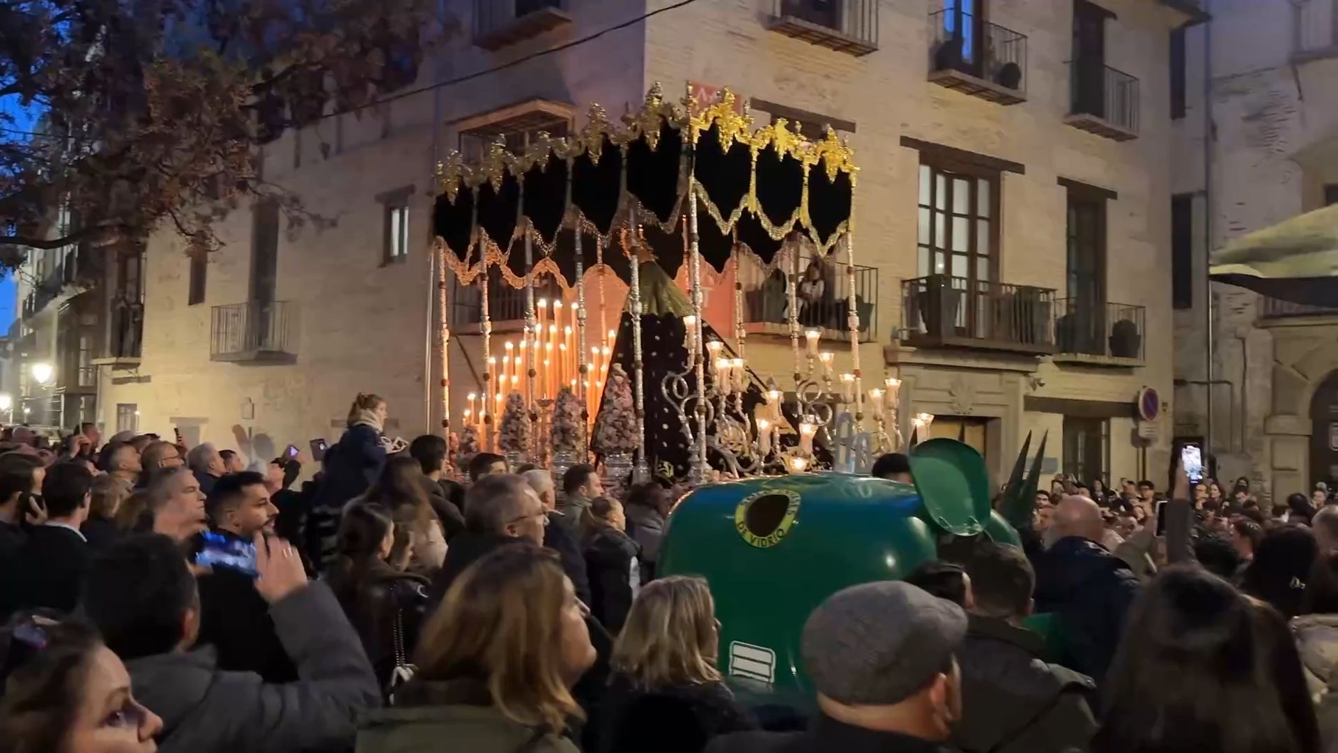
M613 644L597 753L696 753L710 738L756 729L716 669L720 623L706 580L670 576L641 588Z

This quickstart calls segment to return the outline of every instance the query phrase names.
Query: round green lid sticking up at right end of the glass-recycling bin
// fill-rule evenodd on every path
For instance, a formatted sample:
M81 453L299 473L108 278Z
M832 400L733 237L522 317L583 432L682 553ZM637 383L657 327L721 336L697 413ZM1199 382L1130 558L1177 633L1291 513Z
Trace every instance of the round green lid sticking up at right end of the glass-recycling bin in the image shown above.
M910 454L911 477L934 523L955 536L975 536L990 519L989 470L974 448L929 439Z

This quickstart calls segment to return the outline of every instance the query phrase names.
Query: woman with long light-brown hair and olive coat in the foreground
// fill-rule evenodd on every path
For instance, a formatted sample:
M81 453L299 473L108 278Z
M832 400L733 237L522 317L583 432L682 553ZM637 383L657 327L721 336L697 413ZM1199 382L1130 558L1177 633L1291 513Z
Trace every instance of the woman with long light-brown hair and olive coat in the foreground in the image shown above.
M577 753L571 686L595 661L557 555L500 547L470 565L423 627L417 673L357 736L359 753Z

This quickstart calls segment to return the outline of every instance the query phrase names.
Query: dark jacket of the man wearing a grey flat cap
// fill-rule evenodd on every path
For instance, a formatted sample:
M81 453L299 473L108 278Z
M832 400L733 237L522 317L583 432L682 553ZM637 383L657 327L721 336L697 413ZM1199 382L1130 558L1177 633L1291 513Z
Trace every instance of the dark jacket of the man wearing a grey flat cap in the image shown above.
M805 732L740 732L717 737L705 748L705 753L953 753L954 750L947 744L851 726L826 714L819 714Z

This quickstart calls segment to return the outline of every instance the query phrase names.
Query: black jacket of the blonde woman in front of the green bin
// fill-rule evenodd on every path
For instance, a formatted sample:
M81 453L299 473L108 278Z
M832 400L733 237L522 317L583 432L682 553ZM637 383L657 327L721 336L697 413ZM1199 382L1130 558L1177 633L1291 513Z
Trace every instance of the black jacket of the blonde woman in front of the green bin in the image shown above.
M697 753L719 734L757 729L724 682L649 691L618 673L590 724L597 742L593 750L586 746L587 753L640 753L656 745Z

